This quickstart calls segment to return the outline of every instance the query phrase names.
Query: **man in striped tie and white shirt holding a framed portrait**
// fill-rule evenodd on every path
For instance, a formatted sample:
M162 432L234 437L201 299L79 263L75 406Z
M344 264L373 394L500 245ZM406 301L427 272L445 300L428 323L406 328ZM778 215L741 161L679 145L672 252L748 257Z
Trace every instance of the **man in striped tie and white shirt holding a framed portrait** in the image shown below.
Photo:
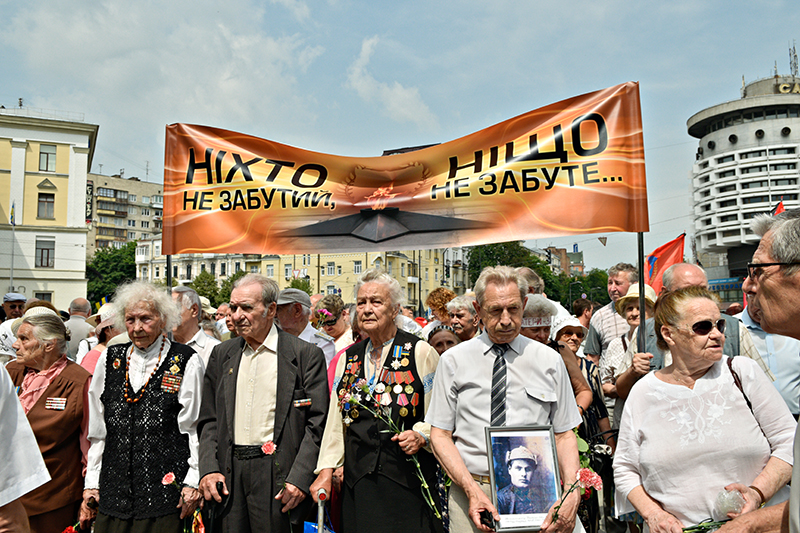
M450 530L490 531L481 514L501 519L490 500L484 430L488 426L552 425L561 479L575 479L578 448L572 429L581 422L569 376L560 355L520 335L528 292L525 279L510 267L488 267L475 284L476 310L485 330L442 354L425 421L431 444L453 486ZM579 496L566 497L542 530L572 531Z

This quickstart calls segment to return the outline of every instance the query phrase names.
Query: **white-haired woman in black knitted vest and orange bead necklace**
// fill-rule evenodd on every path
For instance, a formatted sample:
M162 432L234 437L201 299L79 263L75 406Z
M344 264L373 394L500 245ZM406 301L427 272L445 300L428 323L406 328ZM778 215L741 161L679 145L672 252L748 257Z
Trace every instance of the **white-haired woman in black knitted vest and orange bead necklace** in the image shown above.
M203 361L167 338L180 315L163 289L123 285L114 304L117 327L132 342L110 347L95 367L84 502L100 504L96 533L177 533L200 502L196 426ZM93 515L84 505L82 527Z

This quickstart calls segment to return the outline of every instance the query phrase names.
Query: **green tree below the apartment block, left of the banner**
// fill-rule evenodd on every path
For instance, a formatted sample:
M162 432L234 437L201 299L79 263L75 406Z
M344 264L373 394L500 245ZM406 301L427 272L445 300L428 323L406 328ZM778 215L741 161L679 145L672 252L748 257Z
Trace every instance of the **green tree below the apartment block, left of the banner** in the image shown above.
M125 243L122 248L99 248L86 265L86 279L90 302L111 298L117 287L136 279L136 242Z

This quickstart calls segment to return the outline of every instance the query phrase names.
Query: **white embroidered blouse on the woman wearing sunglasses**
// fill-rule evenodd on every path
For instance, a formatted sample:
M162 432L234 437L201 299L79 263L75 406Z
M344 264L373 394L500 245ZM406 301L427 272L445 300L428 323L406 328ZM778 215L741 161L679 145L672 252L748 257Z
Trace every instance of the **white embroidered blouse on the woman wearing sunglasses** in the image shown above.
M754 361L734 357L754 416L726 360L714 363L692 389L652 372L633 386L614 456L619 514L633 510L627 496L641 485L688 527L712 516L723 487L752 484L770 457L792 464L797 424L780 394ZM788 496L784 487L769 503Z

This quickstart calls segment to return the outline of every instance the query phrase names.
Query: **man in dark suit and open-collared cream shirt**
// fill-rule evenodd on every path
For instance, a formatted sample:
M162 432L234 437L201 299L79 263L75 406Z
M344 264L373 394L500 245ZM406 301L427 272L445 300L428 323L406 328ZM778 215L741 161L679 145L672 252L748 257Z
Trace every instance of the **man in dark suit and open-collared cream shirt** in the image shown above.
M312 499L328 407L325 357L278 329L277 284L248 274L230 306L239 337L214 348L198 420L200 488L222 501L222 530L289 531ZM222 494L217 483L223 483Z

